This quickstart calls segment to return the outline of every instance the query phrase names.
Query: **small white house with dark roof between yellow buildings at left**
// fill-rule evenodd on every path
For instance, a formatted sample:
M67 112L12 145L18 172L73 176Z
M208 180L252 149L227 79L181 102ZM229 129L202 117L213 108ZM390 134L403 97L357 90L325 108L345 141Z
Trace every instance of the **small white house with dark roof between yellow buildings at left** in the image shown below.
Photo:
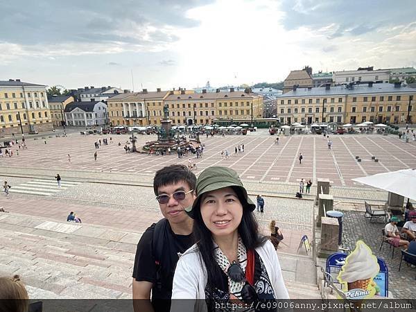
M69 103L64 114L67 125L105 125L108 119L107 105L102 101Z

